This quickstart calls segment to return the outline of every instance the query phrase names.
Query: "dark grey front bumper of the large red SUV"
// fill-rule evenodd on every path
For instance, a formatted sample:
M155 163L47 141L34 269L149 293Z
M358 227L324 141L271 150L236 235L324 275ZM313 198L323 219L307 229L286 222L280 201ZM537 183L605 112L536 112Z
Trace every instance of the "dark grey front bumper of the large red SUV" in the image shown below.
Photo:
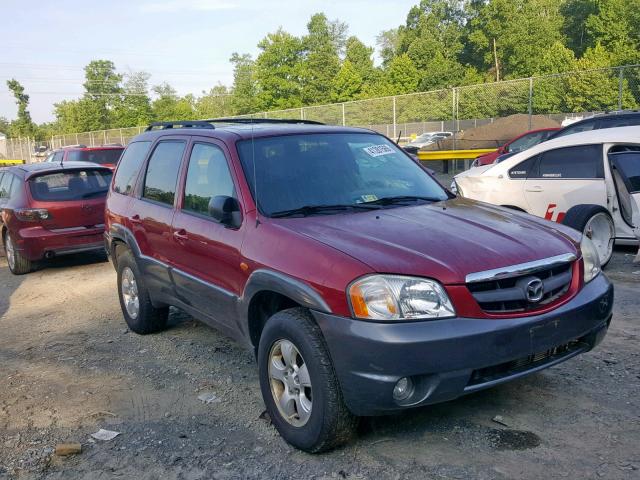
M556 365L604 338L613 286L599 275L568 303L514 319L373 323L314 312L348 408L379 415L444 402ZM393 388L411 377L402 402Z

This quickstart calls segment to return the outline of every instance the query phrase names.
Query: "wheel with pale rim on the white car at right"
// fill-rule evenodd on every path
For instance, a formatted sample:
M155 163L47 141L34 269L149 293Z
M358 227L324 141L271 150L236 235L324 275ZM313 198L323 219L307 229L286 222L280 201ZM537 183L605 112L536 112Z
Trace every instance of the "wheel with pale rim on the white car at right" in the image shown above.
M593 240L602 268L609 263L613 256L616 229L606 208L601 205L576 205L569 209L562 223Z

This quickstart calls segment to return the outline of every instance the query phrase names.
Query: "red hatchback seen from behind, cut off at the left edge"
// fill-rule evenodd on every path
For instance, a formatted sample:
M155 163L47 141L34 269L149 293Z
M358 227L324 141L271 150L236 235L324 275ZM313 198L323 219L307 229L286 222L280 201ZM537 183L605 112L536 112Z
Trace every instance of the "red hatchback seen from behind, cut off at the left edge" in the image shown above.
M104 203L112 172L87 162L0 170L0 234L12 273L43 258L104 251Z

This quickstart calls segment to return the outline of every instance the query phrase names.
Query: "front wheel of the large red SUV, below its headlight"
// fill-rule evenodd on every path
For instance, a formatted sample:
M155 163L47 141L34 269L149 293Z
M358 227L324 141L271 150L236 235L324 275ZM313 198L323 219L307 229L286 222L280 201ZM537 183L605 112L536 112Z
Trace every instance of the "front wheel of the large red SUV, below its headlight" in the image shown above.
M281 407L276 403L278 392L282 390L281 394L285 394L285 382L272 379L271 376L279 367L286 366L285 355L282 354L283 351L286 352L286 342L295 349L295 363L299 367L295 374L300 374L298 386L309 383L308 388L299 389L305 392L304 395L298 395L299 401L285 402L292 408L299 406L295 408L297 418L291 416L290 420L285 418ZM280 357L278 352L281 353ZM305 366L308 382L303 374ZM357 417L344 404L322 332L306 309L283 310L267 321L258 347L258 369L262 397L271 421L288 443L305 452L319 453L347 443L353 438ZM289 385L291 382L295 385L297 377L288 378ZM309 397L311 403L309 405L307 402L306 406L310 408L305 415L304 399L309 400ZM300 414L300 411L303 414Z

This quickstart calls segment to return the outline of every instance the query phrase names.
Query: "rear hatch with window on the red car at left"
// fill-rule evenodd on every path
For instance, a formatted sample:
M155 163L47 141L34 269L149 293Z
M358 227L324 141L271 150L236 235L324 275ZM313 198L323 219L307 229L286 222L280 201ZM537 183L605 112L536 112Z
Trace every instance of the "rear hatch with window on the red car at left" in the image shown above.
M32 208L44 208L49 230L104 226L104 204L111 183L107 169L73 169L30 177L27 187Z

